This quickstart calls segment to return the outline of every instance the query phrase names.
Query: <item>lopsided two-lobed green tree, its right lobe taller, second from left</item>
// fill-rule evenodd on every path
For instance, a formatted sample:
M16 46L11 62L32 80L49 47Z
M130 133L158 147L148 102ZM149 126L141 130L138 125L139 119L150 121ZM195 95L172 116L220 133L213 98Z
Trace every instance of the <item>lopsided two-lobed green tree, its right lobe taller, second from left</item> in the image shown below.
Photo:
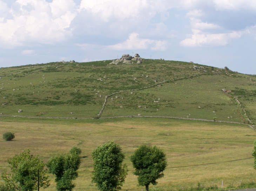
M71 191L75 188L72 180L78 177L77 170L81 164L80 154L81 149L74 146L66 155L53 156L47 162L49 172L56 176L56 190Z

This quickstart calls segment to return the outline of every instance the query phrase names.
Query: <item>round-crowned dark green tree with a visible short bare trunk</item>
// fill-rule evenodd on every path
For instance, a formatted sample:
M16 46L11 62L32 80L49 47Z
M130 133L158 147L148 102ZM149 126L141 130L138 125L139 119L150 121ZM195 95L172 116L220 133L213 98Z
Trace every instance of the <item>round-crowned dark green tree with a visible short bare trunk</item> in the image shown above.
M156 146L140 145L130 157L138 176L140 186L146 186L148 191L149 184L156 185L156 180L164 176L163 170L167 166L166 154Z

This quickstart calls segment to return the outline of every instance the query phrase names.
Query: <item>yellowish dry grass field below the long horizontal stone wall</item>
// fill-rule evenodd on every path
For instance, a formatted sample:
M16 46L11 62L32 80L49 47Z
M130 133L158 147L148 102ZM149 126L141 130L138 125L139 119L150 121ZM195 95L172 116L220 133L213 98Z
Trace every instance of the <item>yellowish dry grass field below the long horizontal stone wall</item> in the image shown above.
M96 146L114 140L123 148L125 163L132 170L129 156L141 143L156 145L167 154L168 167L188 166L251 157L256 132L246 125L198 122L159 118L118 118L98 120L0 118L0 134L15 133L13 141L0 140L0 172L8 170L7 159L29 148L47 162L50 156L68 152L72 146L82 149L83 162L76 179L76 191L97 190L91 183L91 152ZM156 188L170 190L200 182L224 188L232 182L255 180L253 159L194 167L170 168ZM54 191L51 185L43 191ZM141 190L131 171L123 190ZM153 186L150 185L152 189Z

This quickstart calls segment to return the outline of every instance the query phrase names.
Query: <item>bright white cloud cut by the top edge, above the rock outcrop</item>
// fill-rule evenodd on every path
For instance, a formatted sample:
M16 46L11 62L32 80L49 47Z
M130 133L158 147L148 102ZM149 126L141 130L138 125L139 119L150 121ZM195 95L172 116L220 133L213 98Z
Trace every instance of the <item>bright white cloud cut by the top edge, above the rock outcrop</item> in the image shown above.
M152 18L158 12L165 13L163 17L168 16L166 10L172 5L173 3L167 0L82 0L80 11L87 10L106 22L112 17L119 21L133 18L135 22L139 22L142 17Z

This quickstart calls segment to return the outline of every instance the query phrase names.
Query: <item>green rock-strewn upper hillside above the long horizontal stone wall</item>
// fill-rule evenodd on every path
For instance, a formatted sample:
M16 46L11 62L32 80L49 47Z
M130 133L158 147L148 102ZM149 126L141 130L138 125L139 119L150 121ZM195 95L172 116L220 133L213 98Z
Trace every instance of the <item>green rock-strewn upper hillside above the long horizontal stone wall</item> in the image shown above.
M110 62L1 68L0 113L97 117L105 97L116 93L108 96L100 117L141 114L256 122L255 75L180 61ZM203 68L194 69L194 65ZM231 92L224 93L222 89ZM19 109L23 112L18 113Z

